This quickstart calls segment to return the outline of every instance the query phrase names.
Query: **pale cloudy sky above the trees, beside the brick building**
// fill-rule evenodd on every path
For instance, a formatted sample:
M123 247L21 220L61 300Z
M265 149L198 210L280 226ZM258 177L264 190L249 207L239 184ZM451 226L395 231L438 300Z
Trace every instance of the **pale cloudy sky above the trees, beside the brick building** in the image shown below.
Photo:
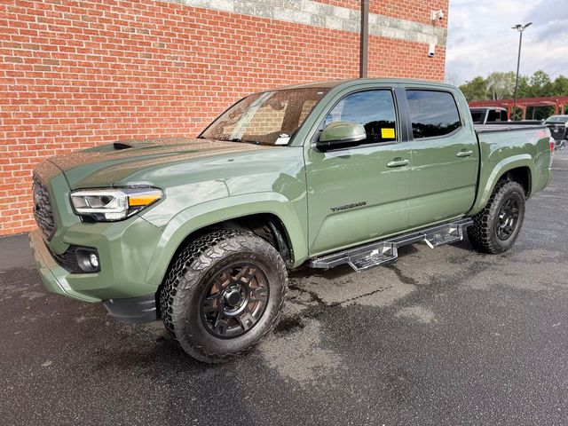
M521 75L568 76L568 0L450 0L446 82L517 71L516 24L523 33Z

